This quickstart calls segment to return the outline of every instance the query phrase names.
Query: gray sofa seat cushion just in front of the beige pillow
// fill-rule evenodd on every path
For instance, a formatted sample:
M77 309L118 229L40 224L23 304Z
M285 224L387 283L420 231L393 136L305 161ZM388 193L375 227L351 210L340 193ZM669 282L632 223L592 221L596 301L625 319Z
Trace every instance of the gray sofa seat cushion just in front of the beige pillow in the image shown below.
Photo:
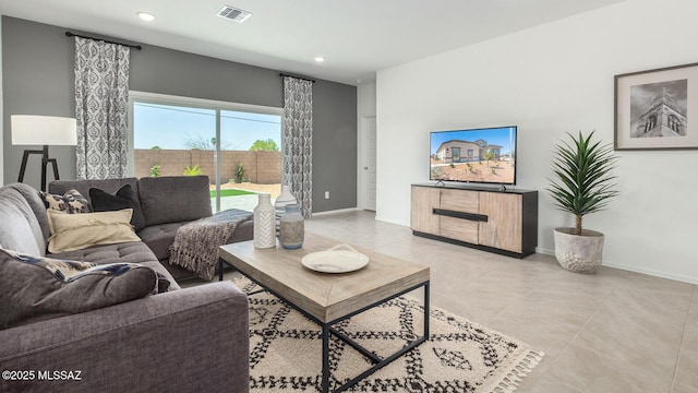
M171 274L158 262L153 251L143 241L95 246L82 250L49 254L49 257L95 263L137 263L163 274L170 282L170 290L180 288Z

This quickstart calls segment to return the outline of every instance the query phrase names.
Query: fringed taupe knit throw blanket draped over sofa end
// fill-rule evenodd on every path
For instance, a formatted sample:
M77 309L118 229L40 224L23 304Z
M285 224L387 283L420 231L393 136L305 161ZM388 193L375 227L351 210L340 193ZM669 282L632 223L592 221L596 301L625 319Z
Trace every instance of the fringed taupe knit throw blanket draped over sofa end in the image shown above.
M216 272L218 247L226 243L238 224L251 216L250 212L230 209L182 225L170 246L170 264L212 279Z

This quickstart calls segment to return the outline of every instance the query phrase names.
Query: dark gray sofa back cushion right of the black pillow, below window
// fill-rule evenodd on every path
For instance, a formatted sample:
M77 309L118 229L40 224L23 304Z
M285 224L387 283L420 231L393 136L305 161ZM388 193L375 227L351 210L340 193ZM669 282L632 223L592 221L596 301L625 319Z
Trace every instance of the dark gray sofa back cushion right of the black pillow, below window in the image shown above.
M139 180L139 196L146 226L212 215L207 176L144 177Z

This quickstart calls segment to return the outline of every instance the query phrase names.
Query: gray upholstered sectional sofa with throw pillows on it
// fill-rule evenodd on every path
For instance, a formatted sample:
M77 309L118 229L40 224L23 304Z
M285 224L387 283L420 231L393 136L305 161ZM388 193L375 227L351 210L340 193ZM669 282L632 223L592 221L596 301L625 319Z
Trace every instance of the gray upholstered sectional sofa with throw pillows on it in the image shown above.
M73 188L88 195L89 188L116 192L125 183L140 196L145 227L137 235L143 241L56 254L46 252L50 230L38 191L22 183L0 188L0 248L21 254L13 259L0 250L0 322L7 324L5 315L24 315L0 325L0 368L11 372L0 379L1 392L249 391L246 296L230 282L181 289L168 271L177 269L164 263L177 228L210 215L206 177L57 181L49 192ZM243 224L232 237L251 238L252 224ZM58 273L38 266L62 260L80 269L123 262L137 263L137 269L61 282ZM112 300L109 290L132 290L127 277L146 271L153 277L159 273L154 293L158 283L169 283L169 291L160 286L160 293L151 295L146 288L146 296L134 300L76 313L64 309L98 303L93 300L100 297ZM27 306L28 312L17 310Z

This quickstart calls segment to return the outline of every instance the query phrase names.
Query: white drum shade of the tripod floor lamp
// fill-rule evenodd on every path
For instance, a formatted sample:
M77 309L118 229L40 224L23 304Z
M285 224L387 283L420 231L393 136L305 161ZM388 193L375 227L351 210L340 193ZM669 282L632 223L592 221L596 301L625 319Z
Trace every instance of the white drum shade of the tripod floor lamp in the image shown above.
M77 123L73 118L12 115L13 145L76 145Z

